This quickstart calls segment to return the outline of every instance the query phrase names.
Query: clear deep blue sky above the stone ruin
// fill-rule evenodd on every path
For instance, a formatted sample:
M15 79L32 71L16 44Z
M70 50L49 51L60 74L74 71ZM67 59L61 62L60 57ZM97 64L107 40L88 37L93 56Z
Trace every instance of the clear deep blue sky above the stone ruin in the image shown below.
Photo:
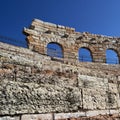
M76 31L120 36L120 0L1 0L0 35L24 40L34 19Z

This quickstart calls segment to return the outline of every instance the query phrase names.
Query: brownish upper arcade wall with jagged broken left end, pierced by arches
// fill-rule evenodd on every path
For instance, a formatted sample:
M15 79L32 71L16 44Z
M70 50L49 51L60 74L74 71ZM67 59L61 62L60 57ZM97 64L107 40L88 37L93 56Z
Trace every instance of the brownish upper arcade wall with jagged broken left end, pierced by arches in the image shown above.
M120 58L120 38L76 32L74 28L64 27L34 19L29 28L24 28L28 47L40 54L47 54L49 43L58 43L62 47L64 59L79 59L80 48L87 48L93 62L106 62L106 50L116 51Z

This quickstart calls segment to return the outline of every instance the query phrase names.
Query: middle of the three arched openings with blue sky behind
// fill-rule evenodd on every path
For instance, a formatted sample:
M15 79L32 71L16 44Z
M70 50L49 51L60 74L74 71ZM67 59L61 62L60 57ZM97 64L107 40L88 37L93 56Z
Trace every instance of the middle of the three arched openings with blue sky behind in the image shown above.
M84 47L80 48L78 55L79 55L79 61L81 62L92 62L93 61L92 53L88 48L84 48Z

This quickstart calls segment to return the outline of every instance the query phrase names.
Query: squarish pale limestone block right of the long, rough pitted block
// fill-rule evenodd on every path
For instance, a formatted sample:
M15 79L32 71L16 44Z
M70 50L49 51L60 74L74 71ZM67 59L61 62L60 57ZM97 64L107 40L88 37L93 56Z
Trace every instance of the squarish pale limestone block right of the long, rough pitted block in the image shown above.
M102 89L83 88L83 107L84 109L105 109L106 91Z

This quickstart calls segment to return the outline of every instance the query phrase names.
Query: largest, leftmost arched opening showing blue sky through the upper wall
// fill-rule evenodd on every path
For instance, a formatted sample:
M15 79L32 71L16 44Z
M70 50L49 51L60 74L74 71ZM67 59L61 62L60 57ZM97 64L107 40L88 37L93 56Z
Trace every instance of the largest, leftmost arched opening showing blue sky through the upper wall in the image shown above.
M47 45L47 55L51 57L63 58L63 48L58 43L48 43Z

